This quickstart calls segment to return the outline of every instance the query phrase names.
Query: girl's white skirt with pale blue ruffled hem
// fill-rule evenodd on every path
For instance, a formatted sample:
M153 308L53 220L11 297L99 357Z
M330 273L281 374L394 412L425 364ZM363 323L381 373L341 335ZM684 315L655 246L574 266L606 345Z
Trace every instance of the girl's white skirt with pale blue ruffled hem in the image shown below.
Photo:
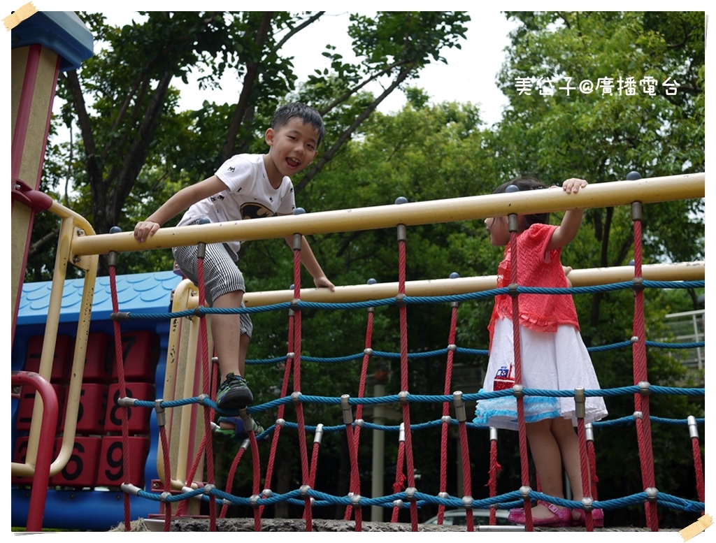
M584 387L585 390L600 388L589 352L574 326L558 326L555 333L537 332L521 326L520 339L522 384L525 388L572 392L578 386ZM498 383L505 381L506 373L514 377L513 347L512 321L500 318L495 323L490 361L480 392L495 390L495 378ZM562 417L571 419L574 426L577 424L574 396L524 396L523 405L526 422ZM586 398L584 422L599 421L606 414L606 406L601 396ZM504 396L478 401L473 422L483 426L517 430L516 398Z

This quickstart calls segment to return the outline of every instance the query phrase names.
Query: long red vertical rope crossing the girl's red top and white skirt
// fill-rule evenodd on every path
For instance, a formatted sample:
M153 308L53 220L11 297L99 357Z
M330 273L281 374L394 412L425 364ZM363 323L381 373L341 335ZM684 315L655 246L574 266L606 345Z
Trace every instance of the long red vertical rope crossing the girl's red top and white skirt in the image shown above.
M517 233L510 234L510 282L517 285ZM518 295L512 297L512 331L513 343L515 351L515 383L522 383L522 353L521 353L521 336L520 336L520 307L518 303ZM520 444L520 467L522 472L522 485L530 484L530 466L527 456L527 428L525 425L525 406L524 398L517 398L517 425ZM525 529L528 532L533 531L532 524L532 503L529 496L524 499L525 503Z

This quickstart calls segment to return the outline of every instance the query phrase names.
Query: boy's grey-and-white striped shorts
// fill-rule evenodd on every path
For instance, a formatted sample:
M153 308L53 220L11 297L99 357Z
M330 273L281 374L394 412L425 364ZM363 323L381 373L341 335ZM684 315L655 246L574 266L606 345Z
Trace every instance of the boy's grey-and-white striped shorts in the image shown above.
M182 273L195 285L199 284L198 265L197 265L197 245L188 245L186 247L175 247L172 249L174 259ZM204 251L204 288L206 295L206 303L209 307L213 306L214 300L221 295L241 290L246 292L246 286L243 283L243 274L238 269L236 263L231 259L231 255L224 247L223 243L211 243L206 245ZM246 307L241 302L241 307ZM241 333L245 333L251 337L253 332L253 323L248 313L241 313Z

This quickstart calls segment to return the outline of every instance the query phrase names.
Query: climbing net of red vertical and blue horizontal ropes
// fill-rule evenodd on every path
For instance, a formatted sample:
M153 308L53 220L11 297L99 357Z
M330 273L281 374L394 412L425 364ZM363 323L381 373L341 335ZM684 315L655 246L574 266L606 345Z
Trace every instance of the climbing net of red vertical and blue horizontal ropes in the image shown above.
M261 307L220 309L205 307L205 293L203 290L203 247L204 243L199 243L199 259L198 259L198 276L200 278L198 285L198 307L188 310L178 310L169 313L142 314L132 315L129 313L121 313L117 302L116 285L115 285L115 265L117 253L110 252L110 285L112 288L112 308L114 311L113 321L115 328L115 344L121 346L121 330L120 322L134 318L142 319L178 319L178 318L195 318L198 319L199 341L197 349L197 363L200 364L201 383L203 384L203 393L190 398L182 398L172 401L163 401L161 399L142 400L136 398L127 398L125 392L124 375L122 373L122 350L117 348L117 376L120 383L120 405L138 406L148 409L155 409L160 434L160 449L163 451L163 489L158 492L149 492L137 488L133 484L126 482L122 484L122 490L125 491L125 527L130 527L130 507L129 496L134 494L142 496L145 499L160 502L164 513L164 529L168 531L170 522L173 517L182 517L188 514L188 503L192 499L200 499L208 504L208 518L210 530L216 531L216 519L226 517L228 507L231 505L243 505L253 508L254 528L256 531L261 530L261 519L266 507L277 504L279 502L288 502L289 504L303 507L303 518L306 524L306 531L311 531L312 511L315 507L326 506L344 506L344 519L354 519L356 531L362 531L362 515L365 507L383 507L392 509L391 522L397 522L398 515L402 510L410 512L410 524L413 531L418 531L418 509L425 504L436 504L438 507L438 523L442 523L446 507L458 507L469 509L485 508L490 509L490 523L495 524L495 509L508 509L511 507L524 507L526 514L526 530L533 530L533 519L531 516L531 502L539 499L545 502L556 504L563 507L573 509L582 509L584 511L584 525L587 531L594 529L594 519L592 512L594 509L614 510L621 507L627 507L633 504L644 504L646 514L647 527L652 531L658 529L657 504L678 509L684 512L702 513L704 509L704 479L700 453L699 436L697 425L703 424L704 419L696 419L693 416L684 420L662 419L652 416L649 411L649 396L655 394L670 395L686 395L686 396L704 396L704 388L675 388L654 386L647 379L647 347L660 348L694 348L704 346L704 342L695 343L659 343L654 341L646 341L645 325L644 325L644 290L647 288L703 288L705 282L700 281L650 281L644 280L642 274L642 232L640 223L640 210L633 209L634 219L634 279L627 282L611 283L609 285L597 285L592 287L573 287L569 289L562 288L528 288L517 285L516 266L513 266L513 285L509 288L496 288L484 290L477 293L466 293L460 295L444 295L444 296L408 296L406 295L406 228L405 225L398 225L398 285L397 295L391 298L383 298L379 300L367 300L355 303L316 303L301 300L301 274L300 274L300 253L301 253L301 235L296 234L294 237L294 287L293 300L286 303L276 303L264 305ZM513 254L516 253L516 233L511 233L511 248ZM517 259L514 258L514 261ZM632 358L634 361L634 383L630 386L619 388L585 390L577 388L576 390L543 390L536 388L525 388L521 385L521 356L519 337L516 333L516 360L515 360L515 381L516 384L508 389L492 392L481 393L465 393L453 391L451 388L451 379L453 376L453 358L456 353L468 353L476 355L486 355L487 351L460 348L456 345L455 331L458 319L458 305L467 300L482 300L492 298L495 295L511 294L513 300L513 314L518 314L518 304L521 294L535 293L596 293L611 290L631 289L634 291L634 328L633 336L629 341L614 343L609 346L601 346L591 348L591 351L609 350L618 348L632 348ZM450 303L451 320L450 332L448 337L448 346L438 351L428 353L409 353L408 334L407 334L407 310L410 305L425 303ZM373 331L373 315L374 308L382 305L390 305L397 308L400 316L400 352L388 353L382 351L374 351L372 348L372 331ZM365 335L365 346L362 353L356 353L352 356L342 356L336 358L316 358L310 356L302 356L301 353L301 311L308 308L317 310L355 310L367 309L367 330ZM211 354L209 352L209 339L207 331L206 316L216 313L258 313L262 311L288 311L288 347L286 356L272 358L266 361L248 361L248 363L276 363L285 362L284 379L282 381L282 389L280 397L274 401L269 401L261 405L251 406L241 411L241 417L244 421L244 427L248 429L248 438L243 441L236 453L225 489L219 489L215 485L214 466L213 466L213 446L211 436L216 424L213 419L218 411L216 405L216 366L211 364ZM447 363L445 366L445 391L442 395L428 396L421 395L410 391L409 382L409 363L411 360L420 357L429 356L445 356ZM372 358L384 357L395 358L400 361L400 392L382 397L366 397L366 382L369 361ZM362 359L361 378L359 381L359 392L357 397L351 397L344 394L339 397L326 396L310 396L303 392L301 383L301 365L302 363L321 363L321 362L351 362ZM289 381L291 382L292 392L288 393ZM593 424L585 424L584 421L584 403L585 398L589 396L634 396L634 414L632 416L614 419L610 421L600 421ZM480 428L468 421L466 414L465 402L478 401L486 398L499 398L503 396L514 396L517 403L518 411L518 439L520 451L520 468L521 468L521 486L518 489L507 492L505 494L496 493L496 478L498 472L497 464L497 437L496 431L490 431L490 479L489 479L489 496L483 499L475 499L473 497L473 483L470 478L470 450L468 448L468 430ZM579 451L581 461L581 477L584 489L584 499L581 501L572 501L567 499L558 499L547 494L543 494L539 490L530 487L530 472L528 464L528 448L526 441L526 429L524 421L523 401L527 396L548 396L548 397L574 397L577 414L577 434L579 436ZM323 403L326 405L340 406L342 411L342 421L332 421L332 426L324 426L324 424L307 424L304 414L304 406L309 403ZM392 403L400 406L402 422L395 426L385 426L382 424L372 424L363 419L363 409L367 405L382 405ZM427 421L415 423L411 419L411 405L415 403L440 403L442 404L442 417L437 421ZM172 479L172 466L170 465L168 443L168 432L165 428L165 410L178 408L190 404L198 404L203 406L203 439L200 441L198 449L195 451L193 466L186 474L185 480L178 481L180 491L175 488L177 482ZM453 408L454 416L450 414L450 408ZM295 414L295 422L286 420L286 409L291 408ZM248 418L251 414L258 414L262 411L276 409L278 415L275 424L263 431L258 436L252 430L251 420ZM355 409L355 414L353 413ZM122 410L122 439L125 441L124 450L128 451L129 431L127 427L127 410ZM652 422L664 424L679 424L687 426L692 439L692 451L694 456L694 466L697 479L697 495L698 502L682 499L656 488L654 476L654 454L652 451ZM642 469L642 487L643 491L628 496L621 496L616 499L599 500L596 492L596 461L594 450L594 429L600 426L612 426L621 424L634 424L637 429L639 459ZM413 433L420 429L440 426L440 492L437 495L425 494L417 488L415 480L415 461L413 458L414 444L412 442ZM457 427L459 433L460 457L463 463L463 481L464 496L454 497L447 492L447 458L448 458L448 429ZM279 439L284 429L291 429L297 434L300 460L301 460L301 485L299 488L289 492L279 494L272 491L271 484L274 478L274 468L276 463L276 453ZM362 496L359 474L359 446L361 432L363 429L377 430L384 432L397 432L399 436L399 449L397 455L397 466L395 471L395 483L393 484L393 493L385 496L373 496L368 498ZM349 451L350 465L350 482L349 493L344 496L327 494L317 491L315 487L316 471L318 465L319 451L321 447L321 439L323 434L328 432L341 432L345 434L347 439L347 449ZM307 445L307 434L314 435L313 447L309 451ZM271 446L269 451L269 459L265 473L261 473L260 449L258 443L268 441L271 438ZM285 439L285 438L284 438ZM248 449L251 450L251 473L252 473L252 493L250 496L235 496L232 492L233 481L236 475L238 464L243 459ZM197 481L197 478L203 478L203 473L198 474L197 471L202 462L205 462L205 481ZM130 481L130 463L128 459L123 459L123 469L125 481ZM263 488L261 488L263 477ZM173 504L177 504L175 512L173 512ZM466 515L467 530L473 531L474 521L471 514Z

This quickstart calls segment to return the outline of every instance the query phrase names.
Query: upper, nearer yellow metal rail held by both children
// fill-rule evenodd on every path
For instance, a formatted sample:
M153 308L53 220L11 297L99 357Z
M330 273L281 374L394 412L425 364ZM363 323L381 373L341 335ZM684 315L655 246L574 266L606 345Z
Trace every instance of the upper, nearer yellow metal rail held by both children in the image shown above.
M137 243L134 233L100 234L74 240L73 255L92 255L148 249L168 249L179 245L223 243L230 240L266 240L303 235L396 228L407 226L477 220L510 213L538 213L580 207L631 205L632 202L666 202L702 198L705 173L652 177L637 181L618 181L589 185L578 195L562 190L512 192L510 194L470 196L401 205L379 205L356 209L271 217L270 221L238 220L208 225L161 228L145 243ZM199 239L200 238L200 239Z

